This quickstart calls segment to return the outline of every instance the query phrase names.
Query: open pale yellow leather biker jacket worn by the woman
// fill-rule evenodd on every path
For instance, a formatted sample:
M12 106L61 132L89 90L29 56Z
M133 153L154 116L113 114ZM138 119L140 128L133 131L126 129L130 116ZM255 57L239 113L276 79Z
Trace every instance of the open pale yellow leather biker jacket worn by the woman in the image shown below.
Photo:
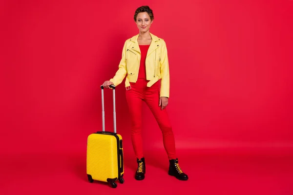
M146 80L147 87L152 86L161 79L160 97L169 98L169 63L167 46L164 39L150 34L152 41L146 55ZM115 86L119 85L126 77L125 86L129 88L129 82L136 82L140 66L141 53L136 35L127 39L124 43L122 59L115 76L110 79Z

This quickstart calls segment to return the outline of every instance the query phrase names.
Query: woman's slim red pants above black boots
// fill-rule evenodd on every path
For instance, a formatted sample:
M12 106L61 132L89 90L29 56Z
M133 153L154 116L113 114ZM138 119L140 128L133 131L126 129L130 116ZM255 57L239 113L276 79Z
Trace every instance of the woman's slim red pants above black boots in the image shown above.
M126 100L131 117L131 141L134 153L138 159L144 157L142 129L142 103L146 102L163 134L164 148L169 159L176 159L175 141L166 109L159 106L159 82L147 87L145 78L138 78L136 83L130 83L131 89L126 91ZM151 133L151 131L150 131Z

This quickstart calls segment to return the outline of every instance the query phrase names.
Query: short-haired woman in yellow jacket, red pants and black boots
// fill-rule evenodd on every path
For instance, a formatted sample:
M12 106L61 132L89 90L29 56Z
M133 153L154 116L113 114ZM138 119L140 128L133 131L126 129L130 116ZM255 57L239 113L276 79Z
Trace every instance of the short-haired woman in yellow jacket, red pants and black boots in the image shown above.
M182 172L175 154L175 141L167 116L166 107L169 98L169 65L167 47L163 39L149 32L154 20L148 6L139 7L134 14L134 21L139 34L125 41L122 59L114 78L106 80L105 88L119 85L126 77L126 101L131 117L131 141L137 157L135 178L145 178L146 164L141 137L142 102L145 101L156 118L163 134L164 148L169 159L168 174L180 180L188 180ZM161 87L159 89L159 80Z

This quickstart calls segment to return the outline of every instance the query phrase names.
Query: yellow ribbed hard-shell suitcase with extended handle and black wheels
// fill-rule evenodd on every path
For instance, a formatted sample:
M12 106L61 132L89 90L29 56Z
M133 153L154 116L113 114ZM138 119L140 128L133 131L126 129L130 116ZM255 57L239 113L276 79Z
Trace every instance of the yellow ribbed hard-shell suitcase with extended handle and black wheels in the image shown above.
M116 133L115 86L113 90L114 132L105 131L104 87L102 89L103 130L87 137L86 173L89 182L94 180L108 182L116 188L115 181L124 183L124 154L122 136Z

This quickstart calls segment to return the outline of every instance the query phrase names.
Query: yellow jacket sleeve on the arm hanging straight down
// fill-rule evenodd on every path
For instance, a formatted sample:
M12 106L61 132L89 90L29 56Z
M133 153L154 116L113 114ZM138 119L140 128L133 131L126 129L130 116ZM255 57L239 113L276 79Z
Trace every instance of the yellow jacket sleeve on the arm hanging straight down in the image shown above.
M163 41L163 45L162 45L160 71L161 71L160 97L169 98L169 88L170 88L169 61L168 61L167 46L165 41Z

